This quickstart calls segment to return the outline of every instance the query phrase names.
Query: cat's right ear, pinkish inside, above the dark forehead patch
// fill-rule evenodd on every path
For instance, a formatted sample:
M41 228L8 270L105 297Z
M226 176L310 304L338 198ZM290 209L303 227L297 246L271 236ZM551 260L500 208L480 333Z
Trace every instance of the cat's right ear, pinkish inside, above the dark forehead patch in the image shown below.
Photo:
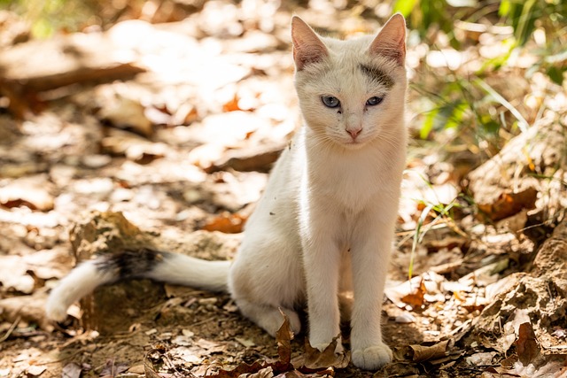
M400 13L385 23L377 37L370 43L370 54L392 58L400 66L406 61L406 20Z

